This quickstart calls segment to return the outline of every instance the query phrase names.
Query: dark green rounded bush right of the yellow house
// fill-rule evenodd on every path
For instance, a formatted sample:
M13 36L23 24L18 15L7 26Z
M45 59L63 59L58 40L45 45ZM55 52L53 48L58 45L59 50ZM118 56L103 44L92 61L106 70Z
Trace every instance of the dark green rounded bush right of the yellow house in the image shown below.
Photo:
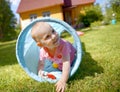
M102 20L103 15L99 5L84 8L85 14L79 15L78 22L83 22L86 27L94 21ZM94 17L93 17L94 16Z

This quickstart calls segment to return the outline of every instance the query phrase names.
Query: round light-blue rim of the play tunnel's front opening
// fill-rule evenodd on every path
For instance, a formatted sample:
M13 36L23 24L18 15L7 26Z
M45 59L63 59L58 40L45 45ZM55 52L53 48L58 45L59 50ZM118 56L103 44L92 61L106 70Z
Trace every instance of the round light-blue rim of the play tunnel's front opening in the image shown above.
M62 26L64 26L67 30L67 32L70 33L70 35L73 36L73 39L74 39L74 42L76 43L76 49L77 49L77 59L76 59L76 62L75 62L75 66L73 67L73 69L71 70L70 72L70 77L72 77L76 71L78 70L79 66L80 66L80 63L81 63L81 60L82 60L82 47L81 47L81 41L80 41L80 38L79 36L77 35L75 29L73 29L70 25L68 25L66 22L62 21L62 20L58 20L58 19L55 19L55 18L50 18L50 17L46 17L46 18L39 18L39 19L36 19L34 21L32 21L30 24L28 24L19 34L18 36L18 39L17 39L17 42L16 42L16 57L17 57L17 60L18 60L18 63L19 65L24 69L24 71L33 79L35 79L36 81L39 81L39 82L44 82L45 80L42 80L42 78L39 78L36 74L34 73L31 73L29 71L29 69L25 68L25 65L23 63L21 63L21 60L24 60L23 59L23 56L20 55L20 52L19 52L19 47L21 45L21 37L22 35L24 34L27 34L29 32L28 28L31 28L34 23L36 22L39 22L39 21L43 21L43 22L54 22L54 23L58 23ZM25 62L25 61L24 61ZM51 82L51 83L54 83L56 81L48 81L48 82Z

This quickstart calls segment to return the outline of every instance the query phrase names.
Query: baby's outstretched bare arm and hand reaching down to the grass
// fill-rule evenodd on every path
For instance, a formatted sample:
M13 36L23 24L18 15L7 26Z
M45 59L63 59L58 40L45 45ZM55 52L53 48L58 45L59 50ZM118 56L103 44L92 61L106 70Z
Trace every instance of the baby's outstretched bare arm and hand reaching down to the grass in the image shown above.
M62 68L62 77L55 84L57 92L64 92L66 88L66 82L69 78L70 73L70 55L63 57L63 68Z

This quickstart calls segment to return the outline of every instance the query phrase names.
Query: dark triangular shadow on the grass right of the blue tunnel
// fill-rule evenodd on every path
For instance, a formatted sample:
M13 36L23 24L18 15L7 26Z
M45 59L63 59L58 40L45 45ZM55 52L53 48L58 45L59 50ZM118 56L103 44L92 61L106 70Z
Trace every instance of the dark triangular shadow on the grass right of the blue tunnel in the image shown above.
M71 80L78 80L78 79L84 79L87 76L95 76L96 74L103 73L103 68L97 64L97 61L95 61L89 52L85 49L85 44L82 43L82 49L83 49L83 56L82 61L80 64L80 67L78 68L77 72L73 77L70 78Z

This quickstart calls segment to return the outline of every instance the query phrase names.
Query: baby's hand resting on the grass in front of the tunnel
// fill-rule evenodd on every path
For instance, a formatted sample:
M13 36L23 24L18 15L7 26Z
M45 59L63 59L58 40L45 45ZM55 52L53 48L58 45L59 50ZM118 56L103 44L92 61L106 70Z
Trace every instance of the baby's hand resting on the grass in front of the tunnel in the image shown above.
M59 80L56 84L56 92L64 92L66 88L66 82Z

